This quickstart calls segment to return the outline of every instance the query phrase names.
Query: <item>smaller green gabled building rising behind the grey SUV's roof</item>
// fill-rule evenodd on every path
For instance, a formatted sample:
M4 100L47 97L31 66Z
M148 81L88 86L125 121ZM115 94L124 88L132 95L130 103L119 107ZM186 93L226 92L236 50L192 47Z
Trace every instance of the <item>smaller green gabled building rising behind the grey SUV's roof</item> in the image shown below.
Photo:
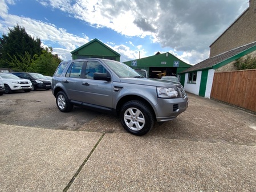
M120 54L98 39L93 39L71 52L72 59L101 58L120 61Z

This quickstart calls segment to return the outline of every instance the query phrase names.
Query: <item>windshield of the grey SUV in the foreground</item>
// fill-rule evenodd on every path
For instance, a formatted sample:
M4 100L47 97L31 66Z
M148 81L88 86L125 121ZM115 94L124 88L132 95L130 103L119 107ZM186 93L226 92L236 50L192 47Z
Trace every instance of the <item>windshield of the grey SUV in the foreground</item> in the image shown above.
M139 73L134 71L131 67L127 66L126 64L116 62L114 60L104 60L104 62L120 78L122 78L122 77L143 77Z

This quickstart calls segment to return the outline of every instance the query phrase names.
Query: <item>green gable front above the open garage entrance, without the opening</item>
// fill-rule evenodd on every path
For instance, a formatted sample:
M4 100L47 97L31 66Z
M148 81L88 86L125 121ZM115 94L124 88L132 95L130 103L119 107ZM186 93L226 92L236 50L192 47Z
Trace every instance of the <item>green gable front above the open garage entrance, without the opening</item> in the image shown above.
M167 57L166 57L166 54L168 54ZM173 67L174 61L180 62L178 68L191 67L190 64L183 62L182 60L176 58L176 56L170 54L169 52L165 52L164 54L159 54L159 55L148 56L147 58L133 59L123 63L131 67L132 62L135 60L137 60L137 67Z

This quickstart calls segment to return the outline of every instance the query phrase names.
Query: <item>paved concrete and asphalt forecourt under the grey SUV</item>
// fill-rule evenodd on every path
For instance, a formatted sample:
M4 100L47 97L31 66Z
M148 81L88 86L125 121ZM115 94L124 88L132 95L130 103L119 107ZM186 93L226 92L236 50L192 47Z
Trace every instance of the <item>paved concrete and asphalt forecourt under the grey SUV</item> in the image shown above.
M142 137L51 91L3 95L0 141L0 191L256 191L256 116L192 94Z

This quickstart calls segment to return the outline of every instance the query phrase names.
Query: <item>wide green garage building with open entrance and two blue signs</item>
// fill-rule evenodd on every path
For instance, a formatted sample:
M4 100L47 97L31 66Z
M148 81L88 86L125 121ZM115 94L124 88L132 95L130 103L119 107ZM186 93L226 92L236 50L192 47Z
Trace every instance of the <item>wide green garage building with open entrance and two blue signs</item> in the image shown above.
M131 60L124 62L124 64L127 64L135 70L146 70L149 78L159 79L161 79L161 76L177 75L181 71L191 67L190 64L183 62L169 52L165 52L164 54L157 52L156 55Z

